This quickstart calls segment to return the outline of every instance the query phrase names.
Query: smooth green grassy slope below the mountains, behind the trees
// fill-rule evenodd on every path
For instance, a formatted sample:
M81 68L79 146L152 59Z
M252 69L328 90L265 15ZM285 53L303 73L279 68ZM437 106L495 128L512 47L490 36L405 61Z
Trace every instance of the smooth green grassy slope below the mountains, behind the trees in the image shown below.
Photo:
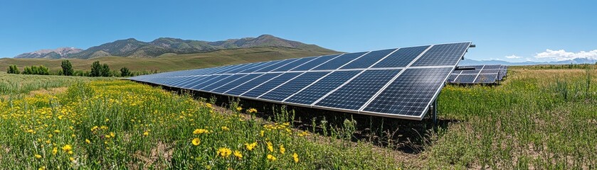
M127 67L131 71L167 72L182 69L196 69L216 67L228 64L241 64L247 62L263 62L269 60L282 60L293 57L308 57L337 53L332 51L308 51L283 47L254 47L234 50L218 50L215 52L198 53L191 55L164 54L156 58L132 57L100 57L89 60L70 59L73 69L89 71L91 64L100 61L110 65L110 69L118 70ZM53 72L58 72L62 60L51 59L14 59L1 58L0 68L6 70L11 64L16 64L21 71L23 67L44 65Z

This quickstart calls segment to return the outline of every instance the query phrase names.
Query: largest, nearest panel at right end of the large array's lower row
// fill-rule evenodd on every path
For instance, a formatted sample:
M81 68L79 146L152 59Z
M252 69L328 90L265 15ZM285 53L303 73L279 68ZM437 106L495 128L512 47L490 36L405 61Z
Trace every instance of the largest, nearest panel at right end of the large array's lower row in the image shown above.
M406 69L363 111L421 116L452 69Z

